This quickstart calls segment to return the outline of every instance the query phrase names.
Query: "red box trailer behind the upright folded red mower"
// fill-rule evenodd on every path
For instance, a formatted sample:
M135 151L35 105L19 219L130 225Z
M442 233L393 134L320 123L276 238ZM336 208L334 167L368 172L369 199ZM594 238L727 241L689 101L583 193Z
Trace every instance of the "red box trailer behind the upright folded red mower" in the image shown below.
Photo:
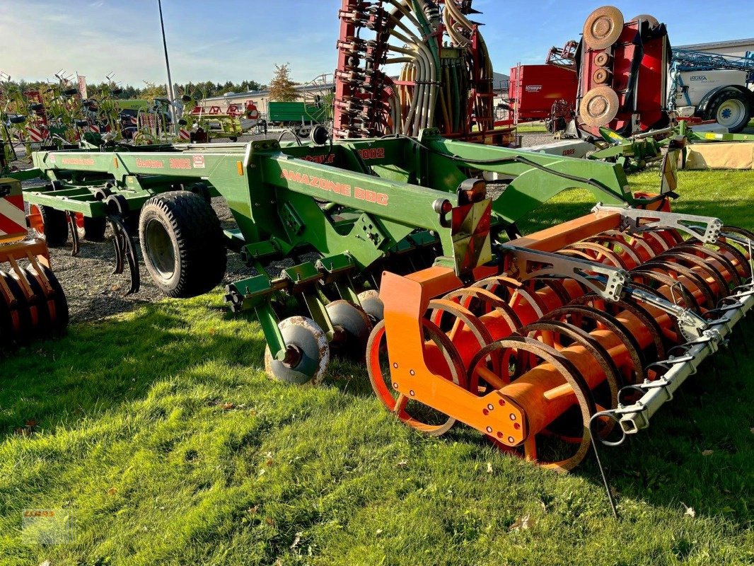
M576 103L578 77L575 71L554 65L518 65L510 69L508 96L513 106L513 122L550 118L553 104L566 100Z

